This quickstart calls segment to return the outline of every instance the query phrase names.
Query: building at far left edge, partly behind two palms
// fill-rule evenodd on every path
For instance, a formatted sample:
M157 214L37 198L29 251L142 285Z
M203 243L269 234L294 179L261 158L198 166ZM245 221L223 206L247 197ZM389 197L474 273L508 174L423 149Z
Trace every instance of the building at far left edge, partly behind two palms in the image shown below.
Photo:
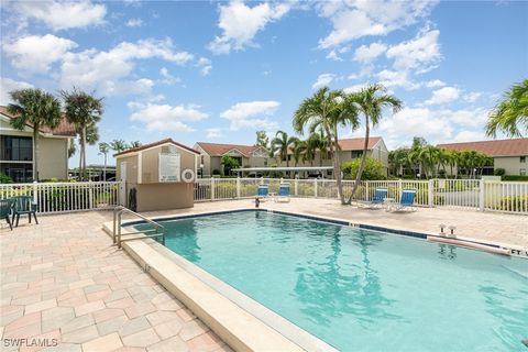
M33 127L28 124L24 130L16 130L11 125L12 119L7 108L0 106L0 173L15 183L32 182ZM40 179L68 178L68 146L75 135L75 127L65 117L55 129L40 129Z

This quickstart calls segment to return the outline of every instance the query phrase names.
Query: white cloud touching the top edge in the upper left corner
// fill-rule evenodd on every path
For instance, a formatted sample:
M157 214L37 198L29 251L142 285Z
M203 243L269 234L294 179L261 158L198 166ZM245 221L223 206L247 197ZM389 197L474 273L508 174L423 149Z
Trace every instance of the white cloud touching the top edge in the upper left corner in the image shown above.
M14 9L20 19L35 19L54 31L102 24L107 7L90 1L20 1Z

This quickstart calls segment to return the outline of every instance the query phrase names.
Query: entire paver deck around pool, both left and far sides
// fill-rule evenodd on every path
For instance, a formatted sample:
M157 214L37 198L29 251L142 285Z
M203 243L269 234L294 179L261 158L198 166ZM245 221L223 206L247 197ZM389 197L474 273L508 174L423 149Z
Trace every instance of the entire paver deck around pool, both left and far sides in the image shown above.
M420 208L387 213L343 207L329 199L266 201L266 208L329 216L415 231L457 226L459 237L528 248L528 217ZM251 200L197 204L193 209L147 216L227 210ZM101 230L109 211L40 217L0 230L0 334L2 351L12 341L57 346L20 351L226 351L229 348L168 294ZM11 340L19 339L19 340ZM29 340L20 340L29 339ZM35 340L36 339L36 340ZM8 341L11 345L8 346Z

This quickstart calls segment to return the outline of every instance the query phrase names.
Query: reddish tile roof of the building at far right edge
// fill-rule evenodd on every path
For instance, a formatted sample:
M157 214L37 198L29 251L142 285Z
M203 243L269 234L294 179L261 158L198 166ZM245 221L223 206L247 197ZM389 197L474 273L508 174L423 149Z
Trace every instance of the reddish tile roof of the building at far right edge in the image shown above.
M528 139L447 143L437 146L454 151L476 151L490 156L528 155Z

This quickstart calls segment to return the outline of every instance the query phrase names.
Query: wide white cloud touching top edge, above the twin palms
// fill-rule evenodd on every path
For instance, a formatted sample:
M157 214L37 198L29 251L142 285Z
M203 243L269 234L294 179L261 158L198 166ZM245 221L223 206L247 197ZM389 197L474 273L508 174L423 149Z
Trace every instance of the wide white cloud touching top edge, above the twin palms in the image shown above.
M332 32L319 47L332 48L367 35L386 35L429 15L437 1L328 1L319 14L330 19Z

